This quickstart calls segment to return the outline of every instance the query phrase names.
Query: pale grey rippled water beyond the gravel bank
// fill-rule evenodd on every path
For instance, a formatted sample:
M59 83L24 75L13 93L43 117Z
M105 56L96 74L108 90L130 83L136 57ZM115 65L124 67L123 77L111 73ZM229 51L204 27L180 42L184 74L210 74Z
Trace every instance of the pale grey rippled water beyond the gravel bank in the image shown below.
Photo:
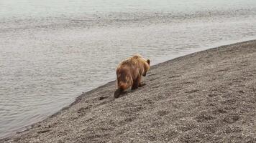
M114 80L127 56L157 64L247 39L255 0L0 0L0 138Z

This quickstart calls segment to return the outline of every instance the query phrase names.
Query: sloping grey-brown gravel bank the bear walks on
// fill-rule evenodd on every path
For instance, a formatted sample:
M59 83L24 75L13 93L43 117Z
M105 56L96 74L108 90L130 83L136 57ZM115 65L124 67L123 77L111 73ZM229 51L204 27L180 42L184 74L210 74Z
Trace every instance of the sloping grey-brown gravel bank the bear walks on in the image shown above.
M256 142L256 41L157 64L144 81L118 99L109 82L0 142Z

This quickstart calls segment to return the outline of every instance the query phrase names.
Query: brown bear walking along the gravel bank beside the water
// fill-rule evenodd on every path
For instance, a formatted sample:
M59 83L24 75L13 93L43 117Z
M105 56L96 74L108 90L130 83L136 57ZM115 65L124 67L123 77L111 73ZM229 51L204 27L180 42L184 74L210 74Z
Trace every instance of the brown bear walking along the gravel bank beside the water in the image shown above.
M141 83L142 76L145 77L150 69L150 59L144 59L136 54L122 61L116 67L117 87L114 97L118 98L125 89L137 89L145 84Z

